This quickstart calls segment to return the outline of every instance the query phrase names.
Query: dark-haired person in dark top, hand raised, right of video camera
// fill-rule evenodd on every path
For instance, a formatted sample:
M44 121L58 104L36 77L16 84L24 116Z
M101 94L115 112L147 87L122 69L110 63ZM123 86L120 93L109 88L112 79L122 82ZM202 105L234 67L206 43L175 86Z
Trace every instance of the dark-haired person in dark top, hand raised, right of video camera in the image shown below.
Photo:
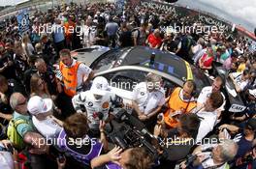
M177 135L166 132L162 125L155 126L154 136L164 141L164 154L160 160L161 169L172 169L176 166L176 161L184 158L194 146L195 137L200 126L200 119L195 114L182 114L177 126ZM167 135L167 137L166 137ZM162 144L162 143L160 143Z

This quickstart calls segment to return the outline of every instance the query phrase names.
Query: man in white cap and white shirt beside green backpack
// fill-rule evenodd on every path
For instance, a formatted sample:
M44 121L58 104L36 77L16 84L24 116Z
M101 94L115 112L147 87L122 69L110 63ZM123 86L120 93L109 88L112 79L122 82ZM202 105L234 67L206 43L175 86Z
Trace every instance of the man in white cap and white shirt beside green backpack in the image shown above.
M27 110L32 115L33 125L47 139L57 138L62 130L62 122L52 116L53 102L35 96L28 100Z

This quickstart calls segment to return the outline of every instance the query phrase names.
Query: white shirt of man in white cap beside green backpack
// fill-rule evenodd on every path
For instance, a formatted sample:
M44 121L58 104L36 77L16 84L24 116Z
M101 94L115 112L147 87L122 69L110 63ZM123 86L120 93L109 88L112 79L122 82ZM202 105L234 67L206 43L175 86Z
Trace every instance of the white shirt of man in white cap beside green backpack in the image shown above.
M32 117L33 125L47 139L57 138L62 127L60 127L53 119L47 117L43 121L39 121L35 116Z

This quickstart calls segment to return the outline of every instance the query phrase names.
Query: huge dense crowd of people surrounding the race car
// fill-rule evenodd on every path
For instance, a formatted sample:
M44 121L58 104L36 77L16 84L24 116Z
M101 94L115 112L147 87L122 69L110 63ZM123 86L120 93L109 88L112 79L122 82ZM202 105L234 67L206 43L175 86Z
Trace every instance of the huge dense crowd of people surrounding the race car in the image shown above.
M253 168L256 166L256 52L231 32L169 29L204 23L126 4L58 6L30 15L20 35L16 17L0 32L0 166L18 168ZM166 29L163 29L166 28ZM94 78L71 50L144 45L175 53L214 76L196 94L196 82L165 91L162 77L148 73L132 102L112 93L109 79ZM229 74L216 75L215 65ZM61 75L54 71L58 69ZM227 116L227 80L246 109ZM153 135L157 161L144 147L112 145L115 107L129 107ZM253 165L254 164L254 165Z

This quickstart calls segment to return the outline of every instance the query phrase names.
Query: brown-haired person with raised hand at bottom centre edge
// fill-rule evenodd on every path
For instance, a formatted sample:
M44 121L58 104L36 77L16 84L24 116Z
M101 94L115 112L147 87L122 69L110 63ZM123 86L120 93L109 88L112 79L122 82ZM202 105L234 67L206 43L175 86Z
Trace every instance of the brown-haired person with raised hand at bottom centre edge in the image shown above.
M114 147L106 155L100 155L91 160L91 168L101 169L150 169L153 160L144 148L131 148L123 151ZM100 167L101 166L101 167Z

